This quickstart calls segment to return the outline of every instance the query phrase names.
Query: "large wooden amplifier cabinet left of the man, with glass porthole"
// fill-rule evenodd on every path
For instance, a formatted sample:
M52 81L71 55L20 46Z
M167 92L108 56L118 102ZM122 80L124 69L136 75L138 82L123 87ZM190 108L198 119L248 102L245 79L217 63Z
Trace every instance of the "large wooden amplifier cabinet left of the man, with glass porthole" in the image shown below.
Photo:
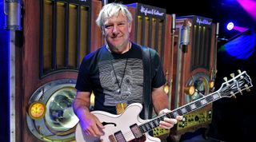
M15 52L16 141L72 141L72 102L82 58L102 45L98 1L26 0Z

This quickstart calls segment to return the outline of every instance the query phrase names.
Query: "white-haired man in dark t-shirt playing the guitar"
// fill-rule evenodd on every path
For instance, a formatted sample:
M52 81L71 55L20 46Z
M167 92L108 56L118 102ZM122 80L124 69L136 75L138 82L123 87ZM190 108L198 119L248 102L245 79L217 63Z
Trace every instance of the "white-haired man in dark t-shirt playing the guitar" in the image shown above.
M74 112L88 136L102 136L102 123L90 112L90 94L95 95L94 110L117 113L116 105L141 103L143 105L143 60L142 46L129 41L132 16L126 6L110 3L103 6L96 20L102 29L106 45L84 57L78 73L74 99ZM158 54L151 49L151 100L158 114L170 112L168 96L163 90L166 83ZM178 116L178 120L182 116ZM124 122L125 123L125 122ZM176 119L165 118L161 128L172 128Z

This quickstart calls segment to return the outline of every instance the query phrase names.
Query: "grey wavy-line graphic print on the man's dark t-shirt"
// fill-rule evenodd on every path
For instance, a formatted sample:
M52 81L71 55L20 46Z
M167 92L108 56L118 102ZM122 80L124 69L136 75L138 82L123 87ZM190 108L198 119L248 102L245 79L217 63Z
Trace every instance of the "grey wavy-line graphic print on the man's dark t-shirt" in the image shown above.
M125 66L126 70L124 70ZM142 103L143 65L141 59L101 61L98 63L98 69L99 80L103 93L105 93L104 105L115 106L122 102ZM120 91L118 83L121 85Z

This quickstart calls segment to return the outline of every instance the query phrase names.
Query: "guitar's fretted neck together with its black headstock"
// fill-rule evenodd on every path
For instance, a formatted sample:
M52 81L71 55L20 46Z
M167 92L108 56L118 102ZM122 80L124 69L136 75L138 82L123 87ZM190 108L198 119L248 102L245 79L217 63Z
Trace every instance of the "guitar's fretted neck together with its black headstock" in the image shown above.
M157 116L154 119L147 121L145 124L139 125L138 128L141 130L142 133L150 132L152 129L159 126L159 122L163 120L164 117L176 118L177 116L183 116L189 112L197 110L198 108L202 108L214 101L217 101L222 97L234 97L236 93L242 94L242 90L244 89L246 89L246 91L249 91L249 88L252 86L253 85L251 83L251 79L247 75L247 73L245 71L242 73L241 71L239 71L238 76L233 77L230 81L222 83L222 87L214 93L210 93L209 95L201 97L196 101L192 101L189 104L176 108L172 112Z

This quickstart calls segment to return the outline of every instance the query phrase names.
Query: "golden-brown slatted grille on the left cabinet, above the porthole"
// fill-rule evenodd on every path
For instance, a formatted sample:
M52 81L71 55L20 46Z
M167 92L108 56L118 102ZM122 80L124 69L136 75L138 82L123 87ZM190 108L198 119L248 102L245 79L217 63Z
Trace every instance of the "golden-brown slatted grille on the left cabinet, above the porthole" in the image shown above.
M90 53L90 7L90 1L41 1L41 77L77 70Z

